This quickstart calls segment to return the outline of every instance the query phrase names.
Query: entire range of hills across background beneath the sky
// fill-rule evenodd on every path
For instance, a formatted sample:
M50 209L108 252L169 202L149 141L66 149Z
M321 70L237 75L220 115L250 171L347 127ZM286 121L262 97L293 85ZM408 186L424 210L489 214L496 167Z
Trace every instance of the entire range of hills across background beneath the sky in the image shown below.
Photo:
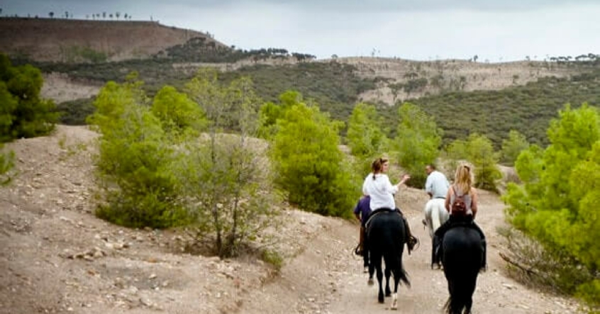
M62 123L81 124L106 82L137 72L149 95L181 89L201 67L221 79L248 76L265 101L288 89L348 121L357 101L377 104L394 136L397 108L411 101L433 115L445 143L483 133L496 147L509 130L547 144L545 130L565 103L600 104L600 55L544 61L412 61L380 57L315 60L284 48L232 49L194 30L153 22L0 18L0 52L45 76L43 96L57 101ZM104 59L103 59L104 57Z

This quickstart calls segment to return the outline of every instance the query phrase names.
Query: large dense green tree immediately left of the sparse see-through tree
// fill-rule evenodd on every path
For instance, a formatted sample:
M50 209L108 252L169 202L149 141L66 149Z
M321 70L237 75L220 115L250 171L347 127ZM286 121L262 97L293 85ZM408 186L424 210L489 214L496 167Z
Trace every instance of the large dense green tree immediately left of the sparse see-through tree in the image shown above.
M96 215L119 225L167 228L184 223L172 174L172 147L135 75L109 82L89 123L101 133L97 167L106 202ZM118 187L118 189L115 189Z

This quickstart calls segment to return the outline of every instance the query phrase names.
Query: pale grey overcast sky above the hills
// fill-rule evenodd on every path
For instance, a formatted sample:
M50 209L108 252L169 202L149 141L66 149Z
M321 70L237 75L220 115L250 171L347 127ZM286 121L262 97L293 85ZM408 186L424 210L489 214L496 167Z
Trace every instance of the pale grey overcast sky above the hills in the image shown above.
M0 0L2 16L134 20L209 31L243 49L283 47L328 58L500 62L600 53L600 0Z

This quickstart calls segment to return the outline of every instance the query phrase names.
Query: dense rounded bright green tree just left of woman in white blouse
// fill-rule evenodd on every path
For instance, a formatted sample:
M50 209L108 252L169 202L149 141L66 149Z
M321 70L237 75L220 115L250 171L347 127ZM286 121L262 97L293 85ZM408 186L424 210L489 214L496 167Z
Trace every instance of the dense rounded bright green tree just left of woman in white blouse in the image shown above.
M301 102L277 120L271 151L275 183L290 203L323 215L350 215L357 190L338 148L339 126L317 106Z

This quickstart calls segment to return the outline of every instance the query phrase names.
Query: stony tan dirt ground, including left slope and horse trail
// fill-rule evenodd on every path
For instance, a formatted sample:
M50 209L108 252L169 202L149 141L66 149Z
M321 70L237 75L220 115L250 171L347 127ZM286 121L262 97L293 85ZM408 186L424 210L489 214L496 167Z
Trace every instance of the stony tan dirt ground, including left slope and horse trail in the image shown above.
M380 313L377 288L351 254L358 225L284 208L277 249L282 270L252 257L221 261L183 253L187 234L131 230L97 219L91 156L96 134L59 126L47 138L17 140L19 175L0 189L0 314L26 313ZM570 298L532 291L504 274L499 259L502 203L482 192L477 220L489 241L474 313L577 313ZM442 271L429 267L421 225L423 191L402 189L397 203L421 247L404 263L402 313L440 313L448 297ZM350 210L350 208L349 208Z

